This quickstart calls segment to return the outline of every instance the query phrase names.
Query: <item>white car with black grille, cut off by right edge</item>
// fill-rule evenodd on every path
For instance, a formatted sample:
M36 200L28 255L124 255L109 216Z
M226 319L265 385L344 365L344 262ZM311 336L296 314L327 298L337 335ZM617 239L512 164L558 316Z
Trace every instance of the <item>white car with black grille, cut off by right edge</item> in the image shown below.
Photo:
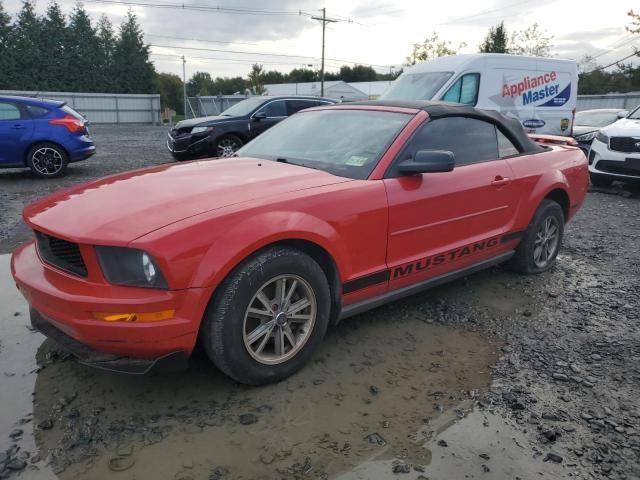
M598 131L589 150L589 176L596 187L640 181L640 107Z

